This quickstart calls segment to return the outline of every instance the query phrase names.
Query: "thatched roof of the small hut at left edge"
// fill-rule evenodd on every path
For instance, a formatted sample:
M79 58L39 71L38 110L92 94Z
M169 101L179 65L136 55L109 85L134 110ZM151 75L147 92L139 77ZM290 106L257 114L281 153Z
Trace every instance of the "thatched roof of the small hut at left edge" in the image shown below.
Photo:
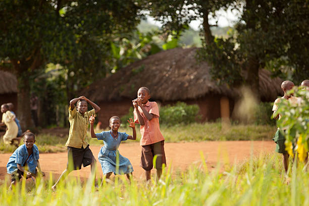
M0 94L17 93L17 79L9 72L0 70Z

